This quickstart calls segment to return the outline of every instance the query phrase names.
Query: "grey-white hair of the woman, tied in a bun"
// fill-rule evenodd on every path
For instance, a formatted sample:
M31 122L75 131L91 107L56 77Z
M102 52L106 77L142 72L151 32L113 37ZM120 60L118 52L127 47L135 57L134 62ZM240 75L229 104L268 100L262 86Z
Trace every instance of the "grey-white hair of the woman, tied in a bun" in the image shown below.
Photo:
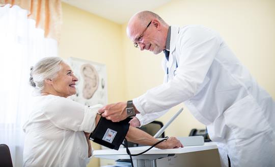
M35 66L31 67L30 85L35 87L41 93L44 89L44 80L53 79L61 69L61 63L64 62L60 57L46 57L39 60Z

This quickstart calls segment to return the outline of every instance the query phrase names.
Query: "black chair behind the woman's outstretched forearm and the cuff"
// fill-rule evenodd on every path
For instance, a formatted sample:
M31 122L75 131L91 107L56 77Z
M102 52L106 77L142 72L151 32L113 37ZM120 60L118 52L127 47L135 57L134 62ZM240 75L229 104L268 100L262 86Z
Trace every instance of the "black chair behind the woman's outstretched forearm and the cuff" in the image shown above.
M150 135L154 136L161 128L163 127L162 122L159 121L153 121L147 125L144 125L142 127L140 127L139 129L149 133ZM164 132L160 135L161 138L164 138ZM128 141L128 147L139 147L142 145L133 143Z

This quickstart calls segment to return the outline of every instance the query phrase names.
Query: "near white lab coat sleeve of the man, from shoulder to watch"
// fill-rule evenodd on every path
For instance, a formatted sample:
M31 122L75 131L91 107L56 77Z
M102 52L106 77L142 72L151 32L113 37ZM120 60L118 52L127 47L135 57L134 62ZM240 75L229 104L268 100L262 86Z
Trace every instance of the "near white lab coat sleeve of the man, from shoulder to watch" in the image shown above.
M206 28L194 27L180 32L175 51L177 75L133 99L136 109L142 115L161 112L193 97L203 83L220 44L221 38Z

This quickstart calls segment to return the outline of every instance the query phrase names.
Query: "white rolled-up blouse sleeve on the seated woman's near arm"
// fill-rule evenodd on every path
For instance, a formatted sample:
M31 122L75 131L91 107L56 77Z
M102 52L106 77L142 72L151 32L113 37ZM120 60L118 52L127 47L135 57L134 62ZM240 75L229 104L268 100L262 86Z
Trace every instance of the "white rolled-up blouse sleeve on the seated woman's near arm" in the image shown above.
M88 107L67 98L55 98L44 108L45 116L58 128L91 133L99 107Z

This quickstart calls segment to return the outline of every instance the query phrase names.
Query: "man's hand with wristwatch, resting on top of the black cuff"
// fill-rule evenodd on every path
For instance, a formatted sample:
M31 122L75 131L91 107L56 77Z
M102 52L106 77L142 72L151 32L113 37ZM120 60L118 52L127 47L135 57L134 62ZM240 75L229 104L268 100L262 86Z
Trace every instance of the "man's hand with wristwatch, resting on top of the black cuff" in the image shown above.
M127 118L126 106L126 102L108 104L99 109L98 113L101 113L101 116L105 117L107 120L120 122Z

